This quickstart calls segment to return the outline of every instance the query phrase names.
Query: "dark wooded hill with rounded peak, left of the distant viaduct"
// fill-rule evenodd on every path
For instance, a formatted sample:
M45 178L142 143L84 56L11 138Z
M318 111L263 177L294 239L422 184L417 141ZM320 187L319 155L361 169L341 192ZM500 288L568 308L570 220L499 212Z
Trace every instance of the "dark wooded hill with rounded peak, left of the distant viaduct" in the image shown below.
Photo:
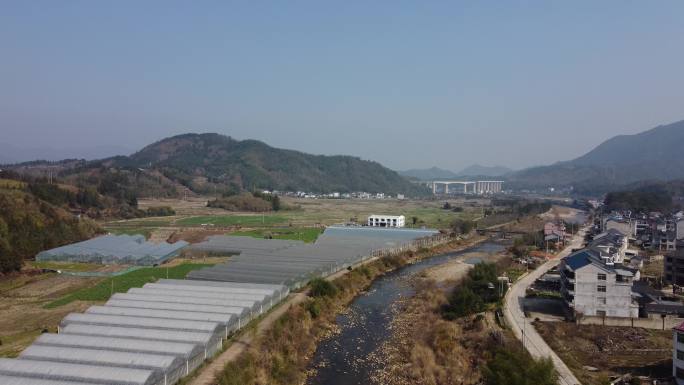
M105 159L98 164L155 170L198 193L226 188L408 195L428 192L377 162L352 156L305 154L219 134L178 135L131 156Z

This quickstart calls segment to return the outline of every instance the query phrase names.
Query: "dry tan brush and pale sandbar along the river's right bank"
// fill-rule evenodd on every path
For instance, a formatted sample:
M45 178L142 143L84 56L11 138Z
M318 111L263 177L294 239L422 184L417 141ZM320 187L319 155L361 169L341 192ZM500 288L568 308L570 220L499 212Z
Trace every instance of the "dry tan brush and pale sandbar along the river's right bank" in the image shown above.
M416 295L404 300L381 347L377 384L480 384L481 368L498 347L516 344L492 312L447 321L441 307L472 265L461 259L502 262L501 254L468 253L413 280Z

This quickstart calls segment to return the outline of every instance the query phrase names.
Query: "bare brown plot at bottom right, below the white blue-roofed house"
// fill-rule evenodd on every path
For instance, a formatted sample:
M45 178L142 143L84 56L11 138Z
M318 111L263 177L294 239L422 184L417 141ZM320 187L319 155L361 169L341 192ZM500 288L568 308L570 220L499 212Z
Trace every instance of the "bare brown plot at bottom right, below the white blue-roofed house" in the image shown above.
M586 385L602 385L610 376L632 373L672 375L672 332L629 327L535 322L551 348Z

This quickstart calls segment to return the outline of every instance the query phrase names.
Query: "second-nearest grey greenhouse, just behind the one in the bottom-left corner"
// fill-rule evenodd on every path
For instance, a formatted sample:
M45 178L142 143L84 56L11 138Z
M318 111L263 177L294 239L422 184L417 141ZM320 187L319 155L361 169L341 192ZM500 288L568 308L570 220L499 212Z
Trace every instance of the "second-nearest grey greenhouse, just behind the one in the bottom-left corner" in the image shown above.
M186 373L185 361L182 358L160 354L33 345L26 348L19 358L72 364L149 369L163 375L164 384L166 385L176 383Z

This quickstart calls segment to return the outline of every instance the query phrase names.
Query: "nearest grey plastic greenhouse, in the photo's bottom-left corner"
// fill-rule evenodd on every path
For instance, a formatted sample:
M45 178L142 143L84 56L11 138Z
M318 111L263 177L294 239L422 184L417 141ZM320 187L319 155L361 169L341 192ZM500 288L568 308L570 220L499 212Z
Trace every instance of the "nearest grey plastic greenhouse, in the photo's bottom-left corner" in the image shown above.
M31 379L117 385L164 385L164 378L147 369L67 364L63 362L0 358L0 375ZM35 384L35 382L29 382Z

